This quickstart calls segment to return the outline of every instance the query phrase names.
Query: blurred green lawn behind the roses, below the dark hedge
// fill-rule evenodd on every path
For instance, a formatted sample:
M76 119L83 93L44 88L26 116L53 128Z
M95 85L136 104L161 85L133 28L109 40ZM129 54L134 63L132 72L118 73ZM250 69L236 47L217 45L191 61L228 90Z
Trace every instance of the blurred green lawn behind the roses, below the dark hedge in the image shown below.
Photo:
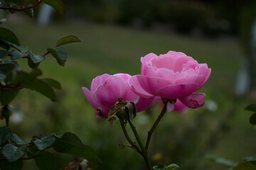
M26 135L30 140L32 135L40 135L41 132L75 132L100 155L103 163L98 169L143 169L144 164L134 151L119 149L118 144L125 141L119 123L115 122L110 127L107 120L97 120L95 111L82 94L81 87L90 87L92 79L100 74L139 74L140 57L149 52L160 55L175 50L186 53L200 63L206 62L208 67L212 68L210 79L201 91L206 93L207 100L211 99L218 104L218 111L210 112L206 108L200 108L189 110L191 113L185 115L167 114L156 132L157 140L154 140L150 154L162 153L166 156L163 158L164 163L177 163L174 162L175 156L169 155L174 153L174 145L177 145L174 141L181 141L180 147L183 147L184 151L187 148L191 153L184 152L186 155L183 155L184 159L179 165L189 169L189 164L194 164L191 162L193 152L200 150L205 144L196 145L195 150L191 149L191 138L186 138L183 132L188 132L189 128L193 130L195 123L200 123L198 118L201 117L198 116L203 117L202 113L206 113L206 118L202 121L207 121L212 131L203 131L203 128L200 128L191 132L203 141L210 132L214 132L215 125L223 119L223 115L233 111L233 117L227 121L227 125L231 125L230 130L225 131L223 135L217 135L220 145L208 148L207 153L209 151L235 161L240 161L240 158L245 156L255 156L252 151L256 148L252 143L256 142L256 137L251 135L253 127L248 123L250 114L242 111L243 106L252 101L233 103L235 77L243 57L236 40L189 38L84 22L55 23L44 28L35 23L9 24L5 27L14 30L21 44L28 45L36 54L46 52L47 47L54 47L55 42L66 35L77 35L85 41L65 46L68 51L65 67L58 66L50 55L46 57L46 62L39 66L43 70L43 77L57 79L62 84L63 91L58 91L58 103L51 103L33 91L23 90L18 94L13 102L16 109L14 115L20 111L25 117L22 123L11 123L11 128L14 128L18 135ZM26 61L22 62L25 66ZM149 129L153 123L151 119L155 119L160 112L159 107L156 106L151 112L151 115L140 113L137 116L137 127L141 132ZM221 166L208 163L202 155L198 156L197 162L206 164L207 169L222 169Z

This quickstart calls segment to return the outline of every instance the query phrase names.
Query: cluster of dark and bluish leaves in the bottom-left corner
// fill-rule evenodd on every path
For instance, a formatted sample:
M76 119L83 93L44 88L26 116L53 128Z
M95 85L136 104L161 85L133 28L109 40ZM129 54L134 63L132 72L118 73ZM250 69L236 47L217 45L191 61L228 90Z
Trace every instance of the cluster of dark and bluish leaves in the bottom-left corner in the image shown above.
M63 135L51 134L32 137L25 142L7 127L0 127L0 169L19 170L23 160L34 159L39 169L58 169L56 156L69 154L86 159L94 167L100 163L95 152L87 145L82 144L78 136L71 132ZM78 164L77 166L80 166Z

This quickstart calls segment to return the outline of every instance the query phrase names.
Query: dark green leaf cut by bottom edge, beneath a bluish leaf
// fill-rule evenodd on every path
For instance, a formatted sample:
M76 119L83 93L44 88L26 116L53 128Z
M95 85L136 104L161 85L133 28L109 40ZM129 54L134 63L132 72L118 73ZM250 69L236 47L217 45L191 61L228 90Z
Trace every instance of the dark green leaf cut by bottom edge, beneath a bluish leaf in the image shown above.
M45 155L40 157L35 157L36 165L38 169L45 170L45 169L55 169L55 156L50 154L47 151L38 152L36 155Z

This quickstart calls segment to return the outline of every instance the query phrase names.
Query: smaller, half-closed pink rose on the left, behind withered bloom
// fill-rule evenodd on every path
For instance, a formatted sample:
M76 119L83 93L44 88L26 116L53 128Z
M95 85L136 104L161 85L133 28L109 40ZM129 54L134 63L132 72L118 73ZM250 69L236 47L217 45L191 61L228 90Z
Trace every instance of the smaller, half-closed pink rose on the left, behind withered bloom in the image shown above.
M154 101L152 98L142 98L134 94L129 87L129 74L102 74L92 80L90 90L82 87L85 98L90 105L97 110L96 118L106 119L110 108L122 98L123 101L132 101L136 103L137 112L149 108Z

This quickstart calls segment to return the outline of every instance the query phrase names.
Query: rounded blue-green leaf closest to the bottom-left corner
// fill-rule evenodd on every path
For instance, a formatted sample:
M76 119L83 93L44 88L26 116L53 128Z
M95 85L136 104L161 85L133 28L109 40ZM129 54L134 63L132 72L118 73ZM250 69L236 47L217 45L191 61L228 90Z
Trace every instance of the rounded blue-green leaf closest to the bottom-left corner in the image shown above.
M26 146L16 147L11 144L4 145L2 153L9 162L15 162L26 154Z

